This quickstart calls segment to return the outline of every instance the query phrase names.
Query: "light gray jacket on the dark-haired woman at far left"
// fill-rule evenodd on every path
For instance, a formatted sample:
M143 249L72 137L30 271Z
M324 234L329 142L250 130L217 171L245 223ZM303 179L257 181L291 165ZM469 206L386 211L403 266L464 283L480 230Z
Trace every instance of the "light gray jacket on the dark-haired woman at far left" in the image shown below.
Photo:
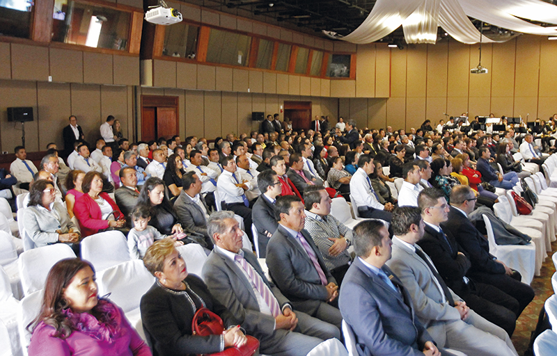
M57 243L58 232L56 230L61 230L63 234L70 229L79 232L79 227L74 225L68 215L68 210L60 202L54 202L52 213L36 205L28 207L23 213L23 219L25 231L38 248Z

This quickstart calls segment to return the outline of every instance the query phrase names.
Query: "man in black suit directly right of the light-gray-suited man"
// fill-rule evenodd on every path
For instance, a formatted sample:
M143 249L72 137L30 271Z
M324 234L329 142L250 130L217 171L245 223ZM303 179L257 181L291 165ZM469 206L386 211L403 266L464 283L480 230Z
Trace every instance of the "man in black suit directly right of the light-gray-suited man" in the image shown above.
M418 245L432 259L439 275L466 305L495 325L512 335L518 318L518 300L496 287L476 282L466 277L471 263L450 231L439 226L448 219L445 195L435 188L427 188L418 195L418 207L422 210L425 223L423 238Z

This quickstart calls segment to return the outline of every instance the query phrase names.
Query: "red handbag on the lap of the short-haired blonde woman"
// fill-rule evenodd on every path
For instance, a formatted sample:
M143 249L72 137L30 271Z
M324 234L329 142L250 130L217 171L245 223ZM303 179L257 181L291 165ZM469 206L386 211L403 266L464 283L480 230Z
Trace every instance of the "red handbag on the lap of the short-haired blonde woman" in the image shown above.
M207 308L200 308L191 321L191 330L194 335L207 337L209 335L220 335L224 331L222 319ZM246 335L248 341L244 346L237 348L231 346L220 353L203 354L206 356L251 356L259 348L259 340L255 337Z

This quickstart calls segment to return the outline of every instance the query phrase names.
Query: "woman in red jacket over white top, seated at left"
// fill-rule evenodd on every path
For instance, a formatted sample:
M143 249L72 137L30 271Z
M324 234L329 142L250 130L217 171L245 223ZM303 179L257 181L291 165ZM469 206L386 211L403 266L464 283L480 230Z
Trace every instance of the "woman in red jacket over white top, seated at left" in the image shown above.
M124 227L124 214L108 193L101 192L102 175L99 172L88 172L81 183L81 190L85 194L74 205L81 236L97 234L99 230L109 227Z

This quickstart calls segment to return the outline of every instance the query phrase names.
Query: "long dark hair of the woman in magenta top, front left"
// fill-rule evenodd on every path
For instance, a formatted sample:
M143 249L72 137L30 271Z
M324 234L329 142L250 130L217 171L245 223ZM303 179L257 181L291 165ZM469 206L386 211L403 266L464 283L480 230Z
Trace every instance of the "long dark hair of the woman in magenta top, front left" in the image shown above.
M27 325L28 330L31 325L33 325L34 329L38 323L44 321L45 324L54 327L56 330L53 335L54 337L65 339L72 334L74 327L63 314L63 309L68 309L70 306L68 300L65 300L63 296L63 291L72 282L73 277L80 270L87 267L90 267L93 273L95 273L95 268L93 268L90 262L79 258L62 259L52 266L45 283L45 294L42 297L40 312L35 320ZM96 306L91 310L91 314L97 317L100 322L109 323L108 316L100 315L99 312L95 311L95 308Z

